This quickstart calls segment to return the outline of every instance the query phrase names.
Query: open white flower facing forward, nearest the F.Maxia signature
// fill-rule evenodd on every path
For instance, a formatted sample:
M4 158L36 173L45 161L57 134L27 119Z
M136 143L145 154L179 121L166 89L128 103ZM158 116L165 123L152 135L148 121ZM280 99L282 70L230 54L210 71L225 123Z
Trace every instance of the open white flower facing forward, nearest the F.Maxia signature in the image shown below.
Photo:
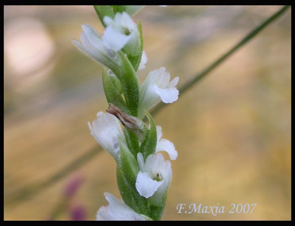
M149 198L150 204L160 205L172 180L170 161L165 161L162 154L151 154L144 162L141 153L137 154L137 161L140 168L135 184L138 193Z

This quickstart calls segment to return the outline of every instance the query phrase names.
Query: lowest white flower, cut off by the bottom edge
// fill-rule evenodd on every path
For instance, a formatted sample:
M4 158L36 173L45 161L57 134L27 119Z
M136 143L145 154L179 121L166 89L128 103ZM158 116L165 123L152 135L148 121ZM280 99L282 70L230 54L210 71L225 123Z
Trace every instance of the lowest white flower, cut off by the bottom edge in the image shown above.
M99 208L96 220L151 220L149 217L135 212L113 194L105 192L104 196L109 205Z

